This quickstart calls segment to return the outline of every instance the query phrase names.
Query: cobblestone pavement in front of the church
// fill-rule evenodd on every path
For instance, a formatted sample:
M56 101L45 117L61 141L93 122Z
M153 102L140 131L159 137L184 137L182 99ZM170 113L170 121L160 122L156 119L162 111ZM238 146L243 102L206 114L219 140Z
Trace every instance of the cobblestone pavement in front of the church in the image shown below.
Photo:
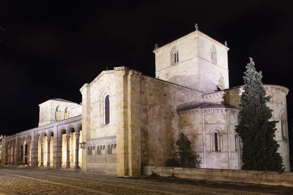
M293 188L172 177L118 177L0 166L0 195L293 195Z

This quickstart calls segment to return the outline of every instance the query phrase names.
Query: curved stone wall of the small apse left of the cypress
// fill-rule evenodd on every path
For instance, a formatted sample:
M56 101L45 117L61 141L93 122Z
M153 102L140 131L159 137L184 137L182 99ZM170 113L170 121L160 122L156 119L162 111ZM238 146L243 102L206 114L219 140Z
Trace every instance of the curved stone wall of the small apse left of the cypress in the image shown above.
M180 132L187 135L194 151L202 157L202 168L240 169L240 145L235 137L237 113L238 109L225 106L179 112Z

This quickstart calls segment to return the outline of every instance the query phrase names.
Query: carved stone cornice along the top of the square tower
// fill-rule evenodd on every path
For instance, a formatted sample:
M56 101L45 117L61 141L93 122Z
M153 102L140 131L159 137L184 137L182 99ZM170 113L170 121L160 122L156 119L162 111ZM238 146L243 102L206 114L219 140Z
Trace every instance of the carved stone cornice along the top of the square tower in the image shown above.
M186 40L189 37L193 37L193 36L195 36L195 37L199 37L200 36L200 37L202 37L204 39L207 39L207 40L211 41L213 44L216 44L216 45L224 48L226 51L228 51L230 49L229 47L225 46L224 44L220 43L219 41L217 41L215 39L212 39L211 37L209 37L208 35L204 34L203 32L201 32L199 30L196 30L196 31L193 31L193 32L191 32L191 33L189 33L189 34L187 34L187 35L179 38L179 39L175 39L172 42L169 42L169 43L163 45L162 47L155 48L153 50L153 52L154 53L158 53L158 52L160 52L160 51L162 51L162 50L164 50L164 49L166 49L168 47L173 47L178 42L181 42L181 41Z

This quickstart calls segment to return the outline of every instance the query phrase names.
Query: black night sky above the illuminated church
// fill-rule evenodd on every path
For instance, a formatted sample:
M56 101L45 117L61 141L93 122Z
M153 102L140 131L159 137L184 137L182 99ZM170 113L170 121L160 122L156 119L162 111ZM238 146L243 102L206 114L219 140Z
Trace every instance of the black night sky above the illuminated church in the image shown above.
M147 2L147 3L146 3ZM193 3L190 3L193 2ZM235 1L0 0L1 130L38 126L39 104L80 103L79 89L107 65L155 76L159 46L199 30L228 42L230 87L243 84L252 57L263 83L293 90L292 4ZM278 4L280 3L280 4ZM293 117L293 92L287 96Z

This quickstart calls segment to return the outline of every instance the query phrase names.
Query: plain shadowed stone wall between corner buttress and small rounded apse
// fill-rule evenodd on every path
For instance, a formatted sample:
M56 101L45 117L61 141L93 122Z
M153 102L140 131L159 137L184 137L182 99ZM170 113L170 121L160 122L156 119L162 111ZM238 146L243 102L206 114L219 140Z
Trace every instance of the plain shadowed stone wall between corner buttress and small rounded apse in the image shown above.
M165 166L180 133L177 109L198 103L202 93L142 75L140 80L142 166Z

